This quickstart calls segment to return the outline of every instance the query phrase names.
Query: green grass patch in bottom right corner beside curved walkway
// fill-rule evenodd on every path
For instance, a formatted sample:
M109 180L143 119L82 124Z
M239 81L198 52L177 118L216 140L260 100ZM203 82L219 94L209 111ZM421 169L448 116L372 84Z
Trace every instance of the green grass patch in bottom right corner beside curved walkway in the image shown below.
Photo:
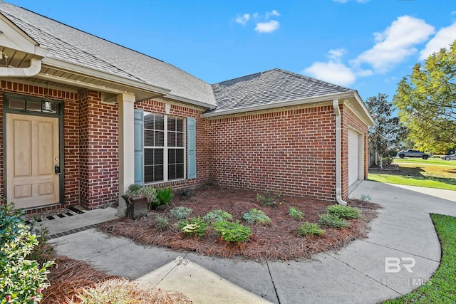
M440 266L425 285L383 303L456 303L456 217L431 214L442 246Z

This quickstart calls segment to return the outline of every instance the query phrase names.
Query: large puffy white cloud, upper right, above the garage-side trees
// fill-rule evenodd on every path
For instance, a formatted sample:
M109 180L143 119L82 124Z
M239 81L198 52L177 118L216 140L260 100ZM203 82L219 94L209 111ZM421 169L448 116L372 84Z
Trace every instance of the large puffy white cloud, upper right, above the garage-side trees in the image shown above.
M382 33L374 33L375 46L351 61L353 66L368 63L375 71L385 73L404 58L416 53L414 47L427 41L434 27L421 19L400 16Z

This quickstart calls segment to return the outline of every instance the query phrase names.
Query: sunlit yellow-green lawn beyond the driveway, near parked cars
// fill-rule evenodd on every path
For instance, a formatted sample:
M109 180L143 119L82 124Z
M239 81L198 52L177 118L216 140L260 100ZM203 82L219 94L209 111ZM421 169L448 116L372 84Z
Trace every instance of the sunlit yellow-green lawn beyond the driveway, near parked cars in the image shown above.
M400 172L369 172L375 182L456 190L456 161L442 159L394 159Z

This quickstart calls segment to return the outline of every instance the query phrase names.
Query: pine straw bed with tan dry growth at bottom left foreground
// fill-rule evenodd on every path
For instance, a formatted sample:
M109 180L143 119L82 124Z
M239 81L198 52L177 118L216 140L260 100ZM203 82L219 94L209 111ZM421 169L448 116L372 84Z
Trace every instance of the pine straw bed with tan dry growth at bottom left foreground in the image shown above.
M192 301L182 293L165 292L160 288L140 288L137 283L128 281L119 276L110 276L98 271L83 261L76 261L64 256L53 258L55 264L48 274L51 286L43 290L43 304L75 304L75 303L113 303L111 300L128 298L132 303L138 304L188 304ZM98 295L103 295L95 300L83 302L81 296L85 291L95 290ZM100 301L103 298L104 301ZM115 302L115 301L114 301ZM115 302L119 303L119 302Z

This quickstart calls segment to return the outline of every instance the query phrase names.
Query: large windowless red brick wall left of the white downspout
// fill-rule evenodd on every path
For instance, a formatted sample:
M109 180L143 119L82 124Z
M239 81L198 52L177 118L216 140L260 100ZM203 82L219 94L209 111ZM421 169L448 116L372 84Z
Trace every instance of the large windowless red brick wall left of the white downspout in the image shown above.
M333 200L335 147L331 105L209 120L209 179Z

